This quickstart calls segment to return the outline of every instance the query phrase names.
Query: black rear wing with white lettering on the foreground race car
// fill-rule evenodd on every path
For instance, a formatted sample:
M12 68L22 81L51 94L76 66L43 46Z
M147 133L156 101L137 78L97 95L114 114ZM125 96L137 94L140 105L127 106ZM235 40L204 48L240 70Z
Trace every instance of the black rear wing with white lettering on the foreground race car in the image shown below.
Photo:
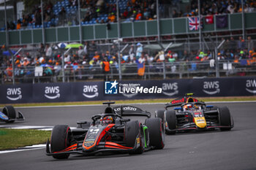
M113 110L114 112L116 112L117 115L121 116L146 116L148 118L151 117L150 112L143 111L138 107L132 107L129 105L113 107Z

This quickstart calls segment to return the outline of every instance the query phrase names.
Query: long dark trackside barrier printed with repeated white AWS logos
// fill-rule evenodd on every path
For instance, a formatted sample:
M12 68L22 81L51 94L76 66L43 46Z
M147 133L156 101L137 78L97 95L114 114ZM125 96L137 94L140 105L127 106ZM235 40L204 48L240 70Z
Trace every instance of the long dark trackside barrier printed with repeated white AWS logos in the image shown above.
M105 82L0 85L0 104L176 98L191 92L200 97L256 96L256 77L120 81L116 87L118 92L119 89L124 92L123 88L142 86L148 89L162 88L162 91L161 93L105 94Z

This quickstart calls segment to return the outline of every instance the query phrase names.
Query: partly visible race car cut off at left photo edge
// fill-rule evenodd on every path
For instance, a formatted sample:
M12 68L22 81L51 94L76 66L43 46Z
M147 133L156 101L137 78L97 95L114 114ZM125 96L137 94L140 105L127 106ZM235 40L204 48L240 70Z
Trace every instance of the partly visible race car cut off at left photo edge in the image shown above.
M5 123L14 123L15 120L25 120L24 116L20 111L18 111L18 115L16 115L16 111L12 106L5 106L0 112L0 122Z

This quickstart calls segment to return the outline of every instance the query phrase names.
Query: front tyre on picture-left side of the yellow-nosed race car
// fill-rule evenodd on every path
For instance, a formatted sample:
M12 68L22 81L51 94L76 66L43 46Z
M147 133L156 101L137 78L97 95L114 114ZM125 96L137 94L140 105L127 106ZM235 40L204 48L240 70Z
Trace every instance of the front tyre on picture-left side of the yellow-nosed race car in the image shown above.
M176 129L176 112L173 110L166 110L165 111L165 125L167 127L165 128L165 134L176 134L176 131L171 131Z

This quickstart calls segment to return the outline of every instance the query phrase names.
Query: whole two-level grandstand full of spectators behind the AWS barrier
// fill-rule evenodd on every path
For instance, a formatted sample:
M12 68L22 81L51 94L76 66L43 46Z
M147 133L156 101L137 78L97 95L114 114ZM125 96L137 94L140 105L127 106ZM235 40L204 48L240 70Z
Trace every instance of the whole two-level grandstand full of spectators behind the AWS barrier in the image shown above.
M256 73L254 1L40 2L20 18L7 8L8 1L1 6L2 84ZM83 49L87 46L88 51L80 55L82 49L60 46L75 43ZM137 55L138 43L143 46L143 57ZM53 50L49 56L42 49L45 45ZM108 76L102 72L107 51ZM65 61L66 57L69 59ZM26 66L25 58L29 61ZM141 62L143 74L138 72Z

